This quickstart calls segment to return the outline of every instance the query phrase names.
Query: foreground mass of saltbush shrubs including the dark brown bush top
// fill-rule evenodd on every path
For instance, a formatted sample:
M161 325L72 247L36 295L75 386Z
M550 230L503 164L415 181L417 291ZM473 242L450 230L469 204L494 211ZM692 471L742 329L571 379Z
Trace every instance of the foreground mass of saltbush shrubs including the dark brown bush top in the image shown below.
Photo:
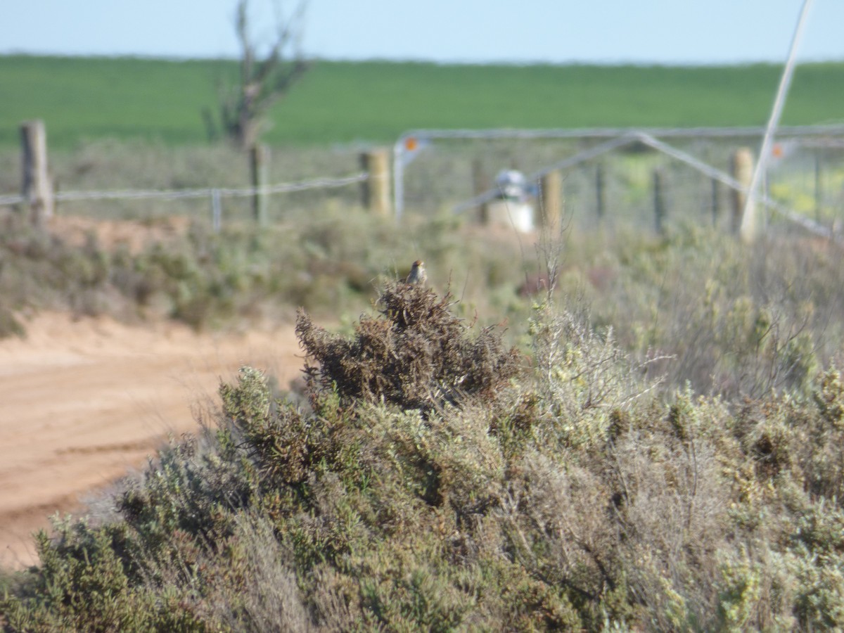
M844 617L838 371L740 404L663 395L630 377L611 333L551 306L517 372L500 333L470 337L428 289L388 283L377 306L350 339L300 315L322 361L306 408L244 367L220 387L217 428L162 449L115 515L42 533L40 565L6 583L6 630L827 630ZM459 398L430 387L455 376Z

